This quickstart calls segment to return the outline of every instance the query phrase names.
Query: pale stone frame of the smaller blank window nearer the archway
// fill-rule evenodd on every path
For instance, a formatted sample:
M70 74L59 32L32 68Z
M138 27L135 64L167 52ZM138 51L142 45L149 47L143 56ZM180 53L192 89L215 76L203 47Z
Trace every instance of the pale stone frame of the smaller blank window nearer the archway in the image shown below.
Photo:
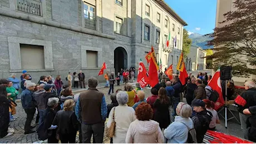
M95 51L97 52L97 60L98 60L98 65L96 68L87 68L87 55L86 52L87 50L90 51ZM86 70L86 69L101 69L102 66L102 48L98 47L91 47L91 46L86 46L86 45L81 45L81 69Z

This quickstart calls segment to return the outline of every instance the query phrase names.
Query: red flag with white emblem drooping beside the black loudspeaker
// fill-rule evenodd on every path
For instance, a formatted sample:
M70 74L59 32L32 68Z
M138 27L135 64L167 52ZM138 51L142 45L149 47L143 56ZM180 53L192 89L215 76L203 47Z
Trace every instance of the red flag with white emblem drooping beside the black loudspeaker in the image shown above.
M215 102L215 108L214 108L215 110L218 110L221 106L225 104L225 101L222 95L221 83L220 83L220 69L216 71L213 78L209 81L208 85L211 87L211 89L216 90L219 94L219 98Z

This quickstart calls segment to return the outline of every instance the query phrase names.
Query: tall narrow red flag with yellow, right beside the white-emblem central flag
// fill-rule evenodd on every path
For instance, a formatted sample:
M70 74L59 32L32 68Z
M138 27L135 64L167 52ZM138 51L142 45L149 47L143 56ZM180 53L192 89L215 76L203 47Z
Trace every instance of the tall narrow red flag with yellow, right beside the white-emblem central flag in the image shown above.
M150 57L150 65L149 65L149 84L154 87L158 84L158 73L159 67L157 65L156 55L154 48L151 47L151 57Z

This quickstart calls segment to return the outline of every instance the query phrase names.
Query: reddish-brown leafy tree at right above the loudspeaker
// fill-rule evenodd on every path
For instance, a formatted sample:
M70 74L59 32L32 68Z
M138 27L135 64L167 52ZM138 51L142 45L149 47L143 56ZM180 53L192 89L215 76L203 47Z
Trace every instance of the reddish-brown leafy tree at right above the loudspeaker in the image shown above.
M214 46L214 69L220 65L233 68L234 76L247 77L256 74L256 1L236 0L235 11L224 14L223 27L215 28L209 34L213 40L207 45Z

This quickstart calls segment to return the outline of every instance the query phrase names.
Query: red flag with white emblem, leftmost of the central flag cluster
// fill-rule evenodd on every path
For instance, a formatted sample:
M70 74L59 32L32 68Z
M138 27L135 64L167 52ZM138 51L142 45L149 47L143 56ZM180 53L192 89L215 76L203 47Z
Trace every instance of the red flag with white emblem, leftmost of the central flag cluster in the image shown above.
M139 64L139 69L138 69L137 82L140 83L141 88L144 88L148 82L147 70L145 68L145 65L142 63L141 59L140 59L140 64Z

